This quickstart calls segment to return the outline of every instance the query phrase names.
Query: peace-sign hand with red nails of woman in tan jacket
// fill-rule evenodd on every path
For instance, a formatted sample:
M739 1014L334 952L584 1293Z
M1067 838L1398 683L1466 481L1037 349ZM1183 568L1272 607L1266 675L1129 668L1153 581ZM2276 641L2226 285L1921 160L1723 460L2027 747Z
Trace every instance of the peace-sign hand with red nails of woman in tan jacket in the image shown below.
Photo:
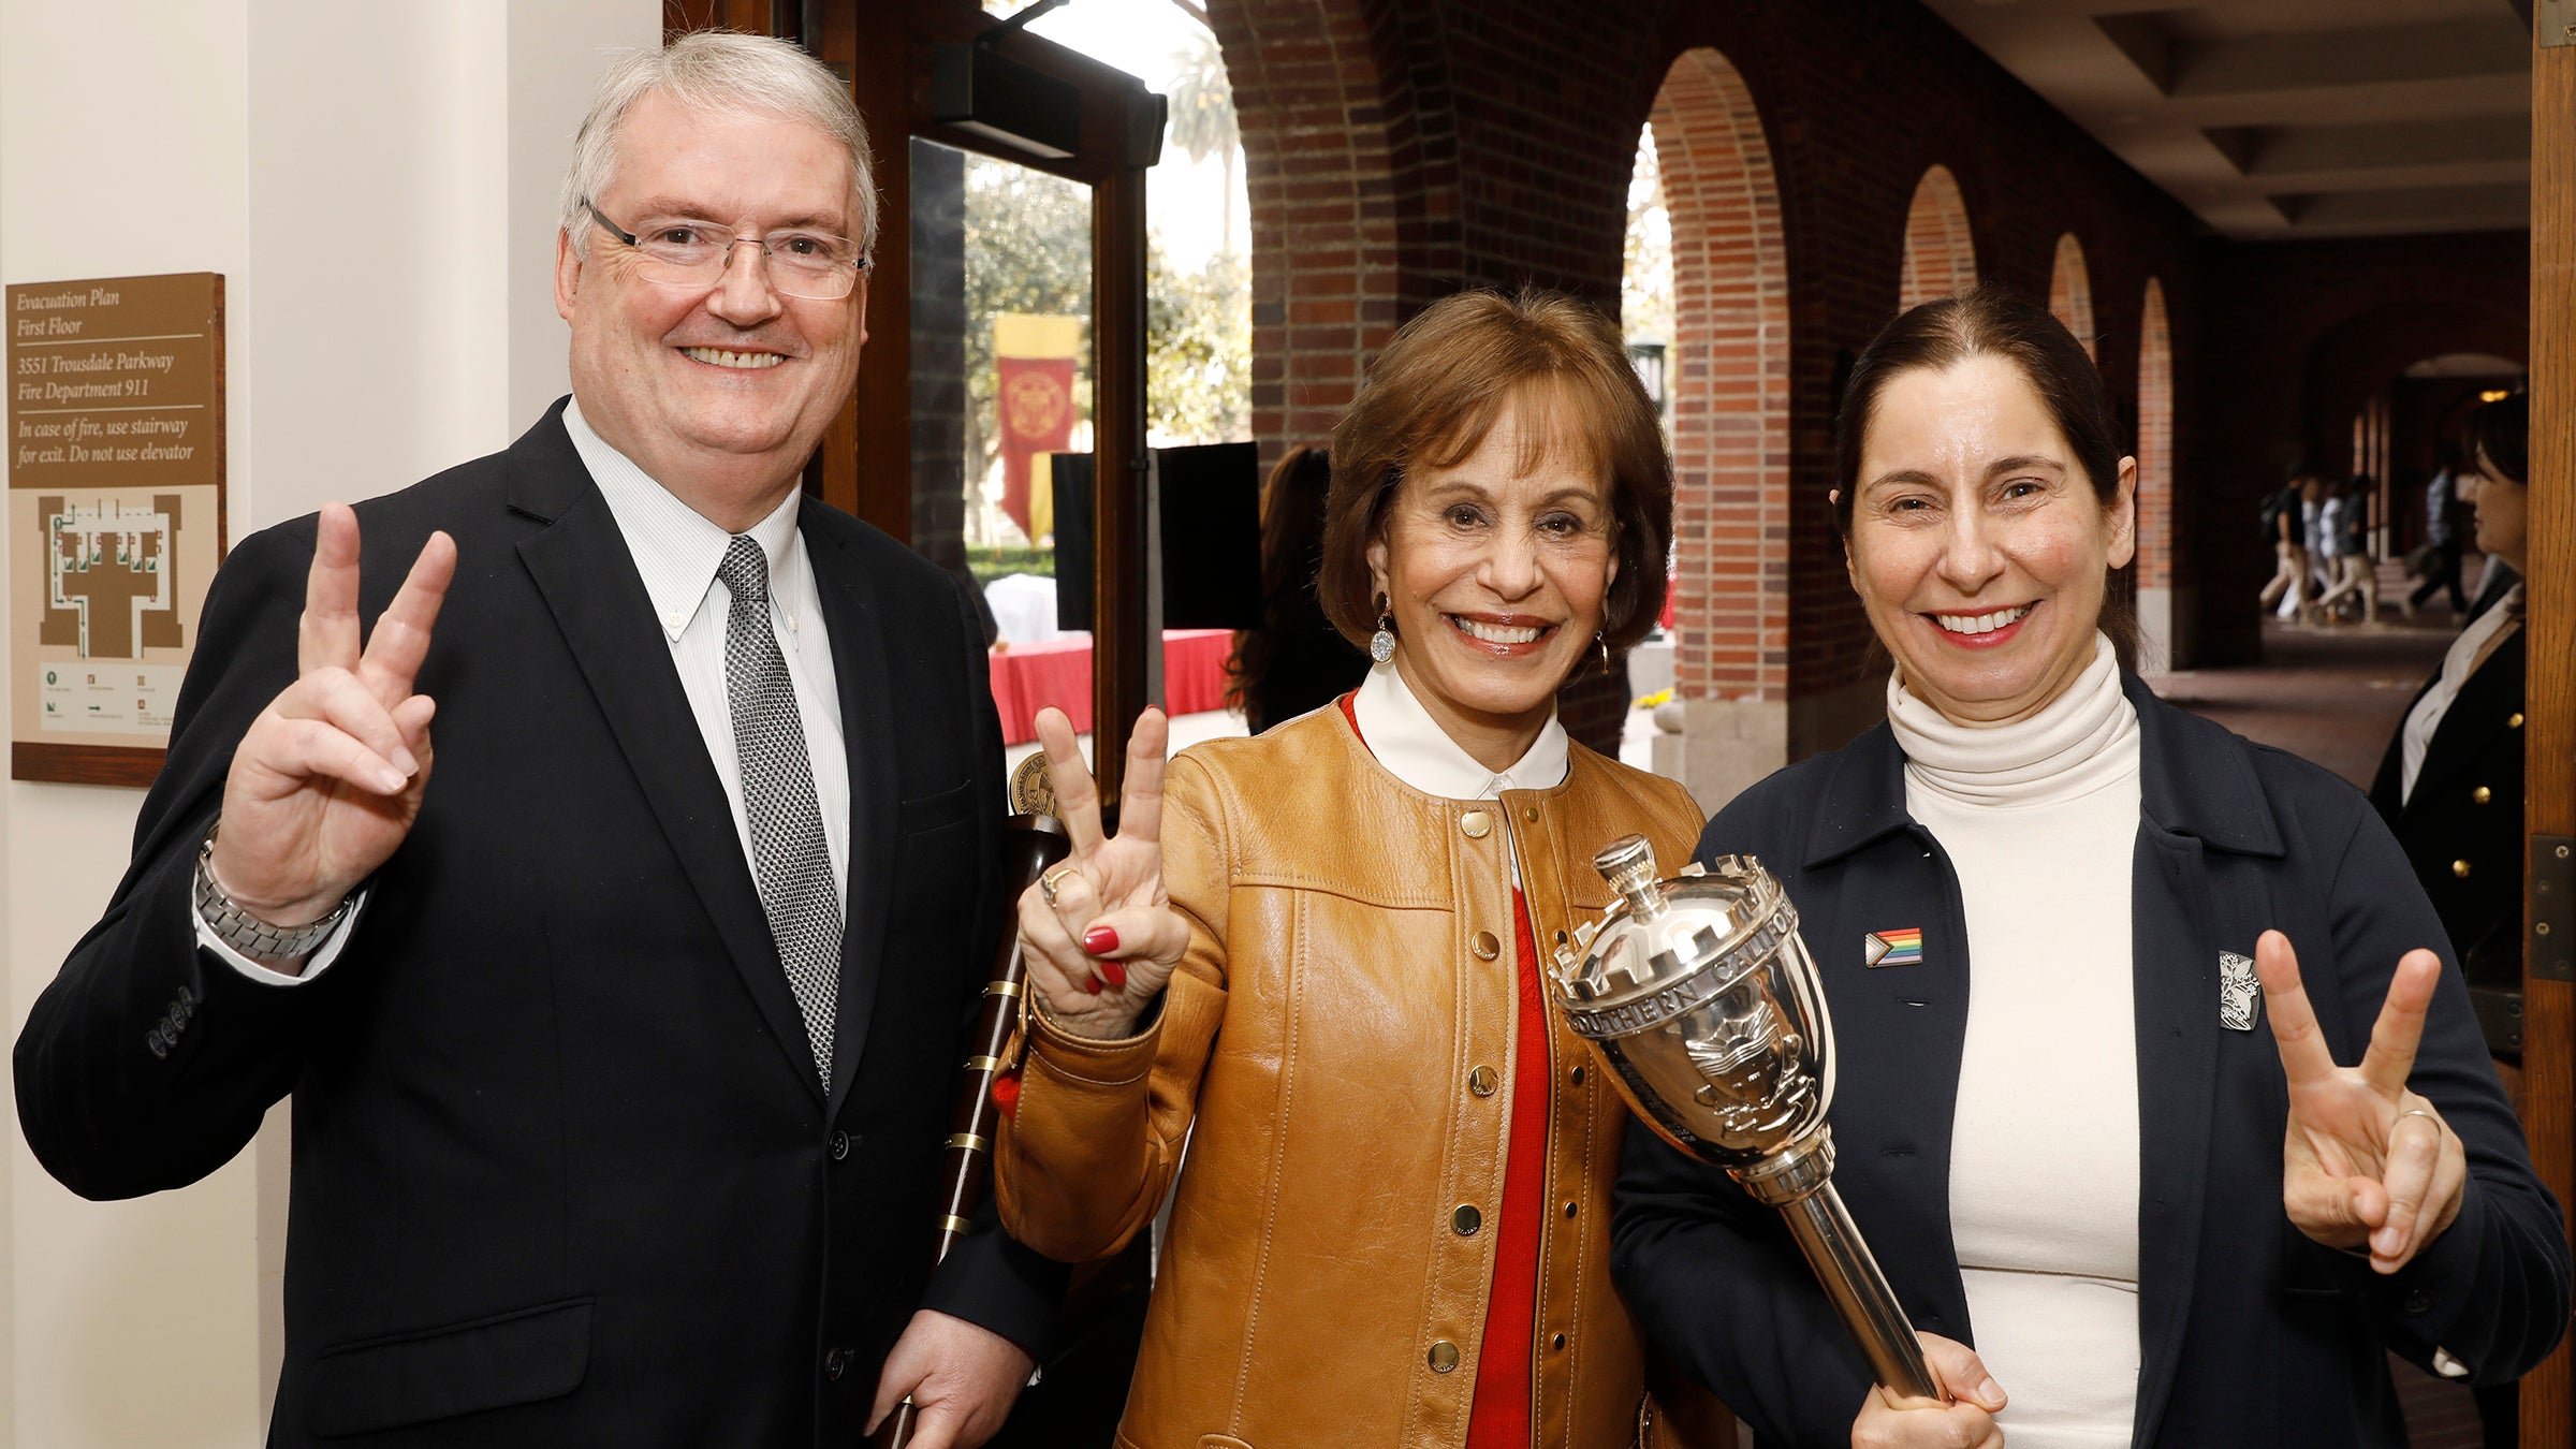
M1136 717L1118 833L1108 838L1072 719L1041 709L1038 740L1074 853L1020 892L1020 951L1056 1026L1113 1042L1133 1034L1190 946L1190 923L1162 890L1164 719L1162 709Z

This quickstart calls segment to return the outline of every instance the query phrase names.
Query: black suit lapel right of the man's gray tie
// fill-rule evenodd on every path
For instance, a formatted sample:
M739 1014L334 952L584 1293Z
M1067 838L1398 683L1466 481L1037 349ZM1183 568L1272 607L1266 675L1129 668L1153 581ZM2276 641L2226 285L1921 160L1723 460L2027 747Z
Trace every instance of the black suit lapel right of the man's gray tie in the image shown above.
M799 513L814 593L832 637L832 678L840 694L840 740L850 758L850 884L840 905L840 1008L832 1029L832 1091L837 1114L876 1013L876 980L886 957L896 833L894 714L886 701L886 624L871 580L850 557L840 529L817 526L817 511Z

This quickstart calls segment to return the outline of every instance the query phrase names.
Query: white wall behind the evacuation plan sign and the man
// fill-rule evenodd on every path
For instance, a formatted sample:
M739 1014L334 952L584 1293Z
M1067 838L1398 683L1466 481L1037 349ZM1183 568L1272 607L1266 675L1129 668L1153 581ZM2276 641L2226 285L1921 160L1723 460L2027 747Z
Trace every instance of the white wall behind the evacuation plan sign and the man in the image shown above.
M234 539L404 487L564 392L554 186L603 52L657 41L657 0L0 0L0 281L224 273ZM0 784L10 1039L139 802ZM242 1160L129 1204L75 1199L8 1140L0 1449L258 1444L283 1111Z

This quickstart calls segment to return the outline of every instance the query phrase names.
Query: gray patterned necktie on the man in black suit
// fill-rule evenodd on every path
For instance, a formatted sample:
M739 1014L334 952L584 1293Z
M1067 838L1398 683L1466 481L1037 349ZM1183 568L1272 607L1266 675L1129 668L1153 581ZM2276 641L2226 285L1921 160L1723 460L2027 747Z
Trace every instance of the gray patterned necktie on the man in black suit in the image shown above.
M832 1080L832 1008L840 1000L840 892L814 804L814 763L796 717L796 686L770 629L770 559L737 536L716 565L734 596L724 619L724 694L742 763L742 810L752 822L752 874L770 918L778 964L814 1044L814 1067Z

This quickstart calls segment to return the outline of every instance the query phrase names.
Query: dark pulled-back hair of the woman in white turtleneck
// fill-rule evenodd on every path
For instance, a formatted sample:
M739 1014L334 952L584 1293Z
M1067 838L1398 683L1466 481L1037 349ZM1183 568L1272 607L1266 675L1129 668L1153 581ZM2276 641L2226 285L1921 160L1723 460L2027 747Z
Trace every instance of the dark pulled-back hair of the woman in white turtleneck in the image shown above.
M2102 371L2053 312L1986 281L1904 312L1852 361L1842 410L1834 413L1834 526L1842 529L1847 549L1852 500L1860 492L1860 446L1868 441L1878 394L1909 371L1947 371L1976 356L2012 364L2040 394L2102 508L2120 500L2120 425L2112 423L2110 400L2102 394ZM2120 650L2120 663L2138 657L2138 616L2117 588L2102 590L2097 627Z

